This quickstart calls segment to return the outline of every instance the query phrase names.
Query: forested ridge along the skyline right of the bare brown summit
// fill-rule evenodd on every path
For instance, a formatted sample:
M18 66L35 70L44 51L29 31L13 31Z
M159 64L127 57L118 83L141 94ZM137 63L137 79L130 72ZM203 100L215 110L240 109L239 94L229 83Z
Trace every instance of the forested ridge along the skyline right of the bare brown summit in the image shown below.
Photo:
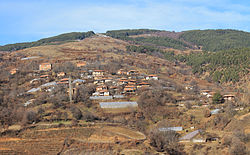
M149 34L135 37L135 35ZM170 32L148 29L107 31L106 35L131 41L135 44L162 46L174 49L193 49L201 46L204 51L250 47L250 33L237 30L191 30ZM133 37L131 37L133 36Z

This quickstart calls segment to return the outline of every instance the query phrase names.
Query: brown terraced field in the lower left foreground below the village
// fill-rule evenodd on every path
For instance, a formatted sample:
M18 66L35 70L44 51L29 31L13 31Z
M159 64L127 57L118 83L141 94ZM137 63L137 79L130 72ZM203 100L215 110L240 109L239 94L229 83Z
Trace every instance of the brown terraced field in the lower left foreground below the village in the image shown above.
M0 138L0 154L58 154L74 148L110 147L117 141L144 140L145 135L122 127L62 127L26 129ZM71 151L68 151L71 150Z

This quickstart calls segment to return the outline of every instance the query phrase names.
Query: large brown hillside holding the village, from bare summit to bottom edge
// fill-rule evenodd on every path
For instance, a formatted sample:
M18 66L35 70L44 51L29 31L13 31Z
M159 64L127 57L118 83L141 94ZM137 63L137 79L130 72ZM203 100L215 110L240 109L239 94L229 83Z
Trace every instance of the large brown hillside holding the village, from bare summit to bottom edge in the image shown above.
M151 39L182 33L126 31L143 39L96 34L2 52L0 154L249 152L249 80L238 89L201 78L234 67L247 77L248 48L197 53L179 42L188 52L176 54Z

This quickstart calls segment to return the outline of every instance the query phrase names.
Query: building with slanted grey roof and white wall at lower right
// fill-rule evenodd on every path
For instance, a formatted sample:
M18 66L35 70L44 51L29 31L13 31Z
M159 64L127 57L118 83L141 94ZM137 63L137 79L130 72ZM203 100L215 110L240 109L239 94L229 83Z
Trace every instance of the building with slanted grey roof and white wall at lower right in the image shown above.
M180 142L193 142L193 143L203 143L206 142L206 138L201 136L202 130L195 130L181 137Z

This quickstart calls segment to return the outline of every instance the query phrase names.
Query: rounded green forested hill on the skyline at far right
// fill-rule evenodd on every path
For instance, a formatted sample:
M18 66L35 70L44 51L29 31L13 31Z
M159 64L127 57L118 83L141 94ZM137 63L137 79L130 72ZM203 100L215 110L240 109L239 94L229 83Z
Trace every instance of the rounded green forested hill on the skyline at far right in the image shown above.
M237 30L192 30L179 38L202 46L205 51L250 47L250 33Z

